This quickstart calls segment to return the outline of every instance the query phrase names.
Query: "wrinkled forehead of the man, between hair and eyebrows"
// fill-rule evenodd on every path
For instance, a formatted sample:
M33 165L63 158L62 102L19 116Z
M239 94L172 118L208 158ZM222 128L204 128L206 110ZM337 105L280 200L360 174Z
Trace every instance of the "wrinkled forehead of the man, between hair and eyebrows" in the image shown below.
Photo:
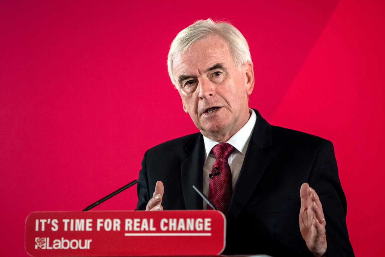
M172 62L175 76L203 72L215 63L234 64L228 44L219 36L199 39L186 52L176 54Z

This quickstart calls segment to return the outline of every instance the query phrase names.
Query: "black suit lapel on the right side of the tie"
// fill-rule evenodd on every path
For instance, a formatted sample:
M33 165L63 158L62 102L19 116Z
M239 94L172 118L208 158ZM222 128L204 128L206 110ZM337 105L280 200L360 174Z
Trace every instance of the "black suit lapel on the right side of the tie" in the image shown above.
M271 125L254 110L257 120L231 197L228 218L236 218L246 205L270 160Z

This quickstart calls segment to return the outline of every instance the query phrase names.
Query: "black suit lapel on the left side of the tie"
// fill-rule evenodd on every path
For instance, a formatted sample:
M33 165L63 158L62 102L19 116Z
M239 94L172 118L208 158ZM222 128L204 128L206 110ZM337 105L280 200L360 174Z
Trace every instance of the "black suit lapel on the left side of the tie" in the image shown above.
M192 188L192 185L196 185L200 189L203 185L204 142L202 134L197 134L191 140L186 151L191 155L181 163L184 203L187 210L201 210L203 209L203 200Z

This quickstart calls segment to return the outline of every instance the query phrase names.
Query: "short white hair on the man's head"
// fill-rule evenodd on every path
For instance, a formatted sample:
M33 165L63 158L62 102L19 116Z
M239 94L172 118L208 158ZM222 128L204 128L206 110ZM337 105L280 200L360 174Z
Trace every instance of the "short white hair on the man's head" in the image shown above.
M179 54L184 54L196 41L209 35L218 35L228 44L235 65L239 68L242 64L251 62L249 45L239 30L229 22L212 19L197 20L186 29L179 32L172 41L167 57L167 68L172 84L177 85L172 71L172 62Z

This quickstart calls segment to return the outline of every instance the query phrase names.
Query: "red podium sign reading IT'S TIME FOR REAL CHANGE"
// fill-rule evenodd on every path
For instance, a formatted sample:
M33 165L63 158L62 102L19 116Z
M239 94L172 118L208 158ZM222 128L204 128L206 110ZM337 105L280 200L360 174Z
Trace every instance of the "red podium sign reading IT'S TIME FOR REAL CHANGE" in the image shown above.
M25 221L36 257L218 255L225 246L220 211L48 211Z

